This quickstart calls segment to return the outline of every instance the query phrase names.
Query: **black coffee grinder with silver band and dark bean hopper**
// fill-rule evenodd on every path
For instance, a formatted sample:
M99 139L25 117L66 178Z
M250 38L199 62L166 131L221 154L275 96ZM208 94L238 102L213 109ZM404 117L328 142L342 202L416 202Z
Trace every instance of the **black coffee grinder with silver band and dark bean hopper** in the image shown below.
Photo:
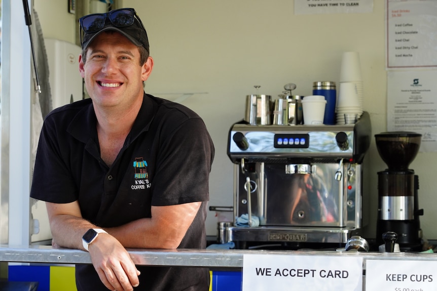
M416 157L421 134L385 132L375 135L376 147L388 169L378 172L378 221L376 241L383 244L383 233L397 233L401 252L422 250L417 190L419 178L409 169Z

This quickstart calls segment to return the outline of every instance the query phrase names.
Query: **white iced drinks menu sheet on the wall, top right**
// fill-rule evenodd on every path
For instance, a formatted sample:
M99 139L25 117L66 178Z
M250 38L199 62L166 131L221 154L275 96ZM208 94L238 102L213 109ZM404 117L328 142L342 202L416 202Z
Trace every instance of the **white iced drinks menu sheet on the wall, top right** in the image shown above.
M437 1L386 1L387 68L437 66Z

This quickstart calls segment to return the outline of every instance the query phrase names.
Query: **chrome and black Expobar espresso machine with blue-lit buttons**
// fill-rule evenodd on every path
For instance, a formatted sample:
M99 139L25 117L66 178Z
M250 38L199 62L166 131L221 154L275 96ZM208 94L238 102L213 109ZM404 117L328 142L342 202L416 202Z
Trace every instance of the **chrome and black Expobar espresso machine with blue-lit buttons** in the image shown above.
M343 247L359 234L363 158L371 122L305 126L233 124L235 247ZM260 246L260 247L258 247Z

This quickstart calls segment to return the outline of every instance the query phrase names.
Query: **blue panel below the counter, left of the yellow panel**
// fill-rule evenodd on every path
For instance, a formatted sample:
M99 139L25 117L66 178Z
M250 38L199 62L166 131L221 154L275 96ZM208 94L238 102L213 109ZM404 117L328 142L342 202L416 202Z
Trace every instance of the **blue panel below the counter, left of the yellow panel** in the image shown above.
M9 266L8 281L39 282L38 291L50 291L50 266Z

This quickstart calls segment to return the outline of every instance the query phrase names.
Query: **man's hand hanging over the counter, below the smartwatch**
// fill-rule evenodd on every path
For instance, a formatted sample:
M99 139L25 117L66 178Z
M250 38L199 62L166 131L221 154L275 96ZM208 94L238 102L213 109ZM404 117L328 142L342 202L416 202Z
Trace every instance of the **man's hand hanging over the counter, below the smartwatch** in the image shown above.
M89 245L91 261L100 280L110 290L131 291L138 286L139 271L121 243L100 233Z

